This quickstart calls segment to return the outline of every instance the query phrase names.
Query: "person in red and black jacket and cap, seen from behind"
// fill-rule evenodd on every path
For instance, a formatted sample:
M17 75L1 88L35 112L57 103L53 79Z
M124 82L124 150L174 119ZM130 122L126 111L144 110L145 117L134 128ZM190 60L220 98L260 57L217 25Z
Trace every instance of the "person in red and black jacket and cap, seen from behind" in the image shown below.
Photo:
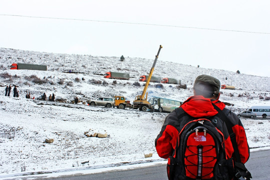
M168 159L168 179L251 178L244 167L249 158L245 130L237 115L218 100L219 89L215 77L197 76L194 95L166 116L155 148Z

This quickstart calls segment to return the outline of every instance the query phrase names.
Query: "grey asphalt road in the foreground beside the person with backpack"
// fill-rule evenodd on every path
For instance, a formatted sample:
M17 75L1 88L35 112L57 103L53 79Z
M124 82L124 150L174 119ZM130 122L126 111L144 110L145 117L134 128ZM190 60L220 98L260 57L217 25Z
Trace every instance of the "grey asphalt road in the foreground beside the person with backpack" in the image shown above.
M153 163L151 163L153 164ZM252 174L252 179L256 180L265 180L269 179L270 177L270 149L266 150L259 150L259 151L252 151L250 153L249 160L245 163L245 166ZM102 172L99 173L90 173L90 172L77 172L74 171L72 174L67 175L64 174L40 174L40 175L27 175L27 176L14 176L14 177L7 177L7 178L0 178L0 179L57 179L57 180L121 180L121 179L128 179L128 180L163 180L167 179L166 176L166 164L154 164L154 165L147 165L143 167L128 167L124 170L111 170L111 169L104 169ZM54 176L54 177L52 177Z

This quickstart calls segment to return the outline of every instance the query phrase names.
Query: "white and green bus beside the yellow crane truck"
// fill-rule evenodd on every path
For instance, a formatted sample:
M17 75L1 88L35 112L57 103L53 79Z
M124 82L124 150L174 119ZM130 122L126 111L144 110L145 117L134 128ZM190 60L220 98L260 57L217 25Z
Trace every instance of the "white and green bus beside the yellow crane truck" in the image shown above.
M171 112L175 108L179 107L183 102L179 100L172 100L163 97L153 96L149 99L150 104L153 106L154 111L159 112Z

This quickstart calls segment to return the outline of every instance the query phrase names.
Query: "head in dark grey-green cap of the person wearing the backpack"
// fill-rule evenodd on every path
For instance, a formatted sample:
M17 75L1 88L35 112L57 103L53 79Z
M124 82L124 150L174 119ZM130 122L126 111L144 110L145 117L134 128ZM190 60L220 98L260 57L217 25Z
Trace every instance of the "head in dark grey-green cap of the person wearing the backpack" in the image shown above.
M220 81L210 75L202 74L195 79L193 88L197 95L211 97L219 92Z

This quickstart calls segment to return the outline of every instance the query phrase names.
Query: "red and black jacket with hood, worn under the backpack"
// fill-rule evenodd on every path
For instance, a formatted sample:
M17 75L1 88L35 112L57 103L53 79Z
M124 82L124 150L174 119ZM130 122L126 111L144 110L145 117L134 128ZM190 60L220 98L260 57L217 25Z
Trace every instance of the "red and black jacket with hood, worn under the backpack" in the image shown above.
M155 148L158 155L162 158L168 158L172 154L173 149L176 145L178 134L181 130L179 129L180 121L183 120L183 118L189 118L190 120L193 120L197 118L207 118L216 115L218 112L214 109L212 103L219 107L233 124L232 130L235 133L241 162L245 163L249 157L249 147L247 144L245 131L240 119L235 113L225 108L225 104L223 102L219 100L211 101L211 99L204 98L201 95L189 97L180 106L180 108L182 108L187 113L187 115L178 119L176 112L172 111L166 116L161 130L155 139ZM225 125L223 127L217 126L217 128L222 131L224 135L225 150L227 156L230 158L233 154L233 147L227 129L222 129L225 128Z

